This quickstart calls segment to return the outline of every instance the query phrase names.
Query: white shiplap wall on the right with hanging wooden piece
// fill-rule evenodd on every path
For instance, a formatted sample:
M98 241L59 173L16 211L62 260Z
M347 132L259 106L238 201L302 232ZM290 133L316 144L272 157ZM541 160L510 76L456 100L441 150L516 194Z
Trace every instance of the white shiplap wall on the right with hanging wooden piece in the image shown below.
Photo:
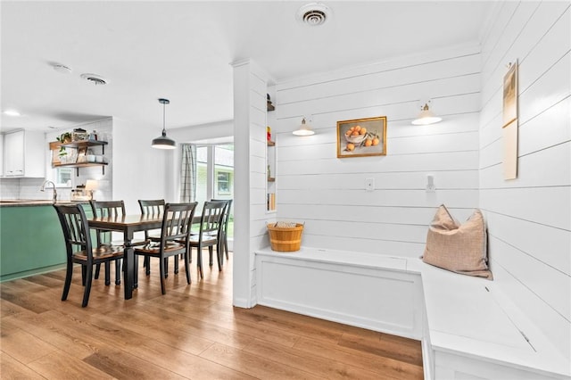
M482 47L480 207L495 281L571 355L569 2L503 2ZM502 78L519 62L518 173L502 178Z

